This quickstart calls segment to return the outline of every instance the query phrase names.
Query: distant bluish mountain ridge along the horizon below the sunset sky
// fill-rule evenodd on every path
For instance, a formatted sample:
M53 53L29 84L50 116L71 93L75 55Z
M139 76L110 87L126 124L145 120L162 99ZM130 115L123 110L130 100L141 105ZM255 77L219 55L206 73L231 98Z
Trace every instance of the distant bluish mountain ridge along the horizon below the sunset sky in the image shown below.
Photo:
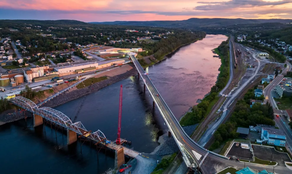
M152 27L174 28L199 28L199 27L222 27L239 24L259 24L266 22L292 23L292 19L226 19L226 18L190 18L177 21L114 21L114 22L88 22L91 24L104 25L133 25Z

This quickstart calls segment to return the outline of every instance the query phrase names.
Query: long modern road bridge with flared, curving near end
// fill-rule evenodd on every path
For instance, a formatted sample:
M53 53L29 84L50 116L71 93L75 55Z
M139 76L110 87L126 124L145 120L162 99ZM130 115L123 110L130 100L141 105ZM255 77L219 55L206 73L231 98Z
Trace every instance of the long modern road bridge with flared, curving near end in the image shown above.
M130 58L132 59L136 69L139 72L139 76L142 78L153 101L155 102L156 107L160 111L166 125L173 135L175 142L183 155L183 160L186 163L187 167L191 169L197 168L200 169L201 173L207 173L209 167L211 167L211 164L209 164L208 166L202 165L207 156L210 157L210 159L212 160L222 162L225 161L226 163L228 163L228 161L230 161L229 157L224 157L222 155L211 152L204 147L201 147L186 134L186 132L178 123L177 119L159 94L158 90L155 88L154 84L149 79L148 75L146 74L140 63L134 56L130 56Z

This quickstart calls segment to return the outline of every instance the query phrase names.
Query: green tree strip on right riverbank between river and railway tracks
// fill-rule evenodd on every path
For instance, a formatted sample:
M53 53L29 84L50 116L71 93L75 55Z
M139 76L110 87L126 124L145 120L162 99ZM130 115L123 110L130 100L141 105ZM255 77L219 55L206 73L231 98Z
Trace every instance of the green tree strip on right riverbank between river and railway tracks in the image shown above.
M182 126L189 126L201 122L206 117L206 115L208 115L208 110L211 110L210 108L219 99L219 97L217 97L218 93L224 88L229 79L228 40L223 41L214 51L220 56L222 63L219 68L220 73L218 75L216 84L211 88L210 94L207 95L201 103L193 106L192 111L186 113L186 115L181 119L180 124Z

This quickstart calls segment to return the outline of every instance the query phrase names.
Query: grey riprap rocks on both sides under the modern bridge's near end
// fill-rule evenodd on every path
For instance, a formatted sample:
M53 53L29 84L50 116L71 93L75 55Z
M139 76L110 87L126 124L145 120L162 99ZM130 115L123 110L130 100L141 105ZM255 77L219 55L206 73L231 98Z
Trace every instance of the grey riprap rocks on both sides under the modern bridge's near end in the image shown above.
M183 130L188 134L188 136L191 136L191 134L193 134L193 131L195 131L196 127L197 124L191 126L184 126ZM168 133L165 133L162 136L160 136L158 142L160 143L160 145L156 147L151 154L164 156L179 151L178 145L173 139L173 136L168 137Z

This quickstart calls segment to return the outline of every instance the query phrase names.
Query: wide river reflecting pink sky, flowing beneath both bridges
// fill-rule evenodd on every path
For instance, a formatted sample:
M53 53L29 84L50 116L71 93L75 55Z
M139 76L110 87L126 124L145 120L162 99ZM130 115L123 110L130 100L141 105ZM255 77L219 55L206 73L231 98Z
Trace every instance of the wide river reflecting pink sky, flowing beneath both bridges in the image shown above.
M215 54L211 50L224 40L227 40L224 35L206 35L203 40L181 47L164 61L145 70L176 118L196 104L197 99L203 98L215 84L221 61L213 57ZM130 147L134 150L151 153L167 127L158 110L152 109L152 99L147 90L143 93L143 83L137 76L54 109L73 120L84 100L76 121L81 121L87 130L101 130L107 139L114 141L121 84L121 138L132 141ZM114 154L99 153L97 164L95 149L83 144L81 154L79 142L67 147L66 136L60 131L55 133L49 126L34 129L31 119L0 126L0 139L1 143L5 142L0 149L0 166L4 173L15 173L15 165L20 163L18 169L27 173L53 173L56 168L58 173L104 173L114 167Z

